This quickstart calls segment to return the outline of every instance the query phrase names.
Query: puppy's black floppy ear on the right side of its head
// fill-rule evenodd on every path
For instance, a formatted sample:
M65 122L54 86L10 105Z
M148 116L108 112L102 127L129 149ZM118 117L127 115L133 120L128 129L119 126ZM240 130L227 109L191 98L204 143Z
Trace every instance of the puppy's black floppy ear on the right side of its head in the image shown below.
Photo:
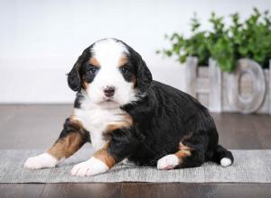
M137 53L136 75L137 87L141 92L145 92L153 81L153 76L149 68L146 66L145 61Z

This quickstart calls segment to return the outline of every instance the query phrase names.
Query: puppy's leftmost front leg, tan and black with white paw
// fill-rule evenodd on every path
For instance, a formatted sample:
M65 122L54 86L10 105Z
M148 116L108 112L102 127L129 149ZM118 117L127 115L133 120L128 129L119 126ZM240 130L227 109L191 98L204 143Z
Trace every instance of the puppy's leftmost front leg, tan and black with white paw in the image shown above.
M25 161L24 167L30 169L54 167L61 160L74 154L87 140L89 140L89 133L83 130L80 122L67 119L60 138L57 139L53 146L41 155L29 157Z

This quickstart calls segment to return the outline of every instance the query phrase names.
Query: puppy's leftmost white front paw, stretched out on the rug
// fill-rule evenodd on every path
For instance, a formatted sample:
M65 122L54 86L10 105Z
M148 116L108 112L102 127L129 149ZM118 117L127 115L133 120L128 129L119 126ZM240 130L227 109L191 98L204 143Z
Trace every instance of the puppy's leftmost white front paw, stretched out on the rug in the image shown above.
M43 167L54 167L58 163L55 157L52 157L49 153L42 153L39 156L29 157L24 162L24 167L30 169L39 169Z

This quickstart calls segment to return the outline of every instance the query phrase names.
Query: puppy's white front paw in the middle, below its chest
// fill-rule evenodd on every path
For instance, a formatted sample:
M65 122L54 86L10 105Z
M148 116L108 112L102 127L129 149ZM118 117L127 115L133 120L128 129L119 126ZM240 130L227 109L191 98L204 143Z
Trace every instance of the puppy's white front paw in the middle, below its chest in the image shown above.
M70 174L76 176L91 176L105 173L108 169L108 166L104 162L98 158L91 157L88 161L73 166Z

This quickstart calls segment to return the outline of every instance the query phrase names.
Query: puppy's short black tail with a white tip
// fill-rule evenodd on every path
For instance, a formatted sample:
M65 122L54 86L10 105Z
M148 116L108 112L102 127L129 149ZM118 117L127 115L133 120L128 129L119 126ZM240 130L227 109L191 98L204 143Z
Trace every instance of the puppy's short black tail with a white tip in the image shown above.
M221 166L230 166L232 165L233 160L232 153L229 150L220 145L217 146L213 154L212 161L220 164Z

